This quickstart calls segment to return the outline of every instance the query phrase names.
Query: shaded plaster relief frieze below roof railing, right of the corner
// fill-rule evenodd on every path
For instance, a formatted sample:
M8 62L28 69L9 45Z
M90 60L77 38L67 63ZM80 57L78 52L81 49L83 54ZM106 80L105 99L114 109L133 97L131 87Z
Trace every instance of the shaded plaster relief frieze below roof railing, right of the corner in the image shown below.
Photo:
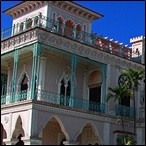
M86 46L84 44L80 43L74 43L74 41L66 39L66 38L60 38L59 36L56 37L55 34L48 34L44 32L39 32L39 41L43 41L47 45L52 45L53 47L58 47L57 42L60 43L60 49L70 52L70 53L75 53L79 56L83 57L88 57L90 59L93 59L95 61L99 61L105 64L112 64L112 65L119 65L124 68L127 68L131 66L132 68L144 68L143 65L135 63L135 62L130 62L129 60L124 60L124 58L119 58L118 56L113 56L112 54L109 54L107 52L101 52L100 50L95 50L92 47ZM43 36L44 39L41 39Z

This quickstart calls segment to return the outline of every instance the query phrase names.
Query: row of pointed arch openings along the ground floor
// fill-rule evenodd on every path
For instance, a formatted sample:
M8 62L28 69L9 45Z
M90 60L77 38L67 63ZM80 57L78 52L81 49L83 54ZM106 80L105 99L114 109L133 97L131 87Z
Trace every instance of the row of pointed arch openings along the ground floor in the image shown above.
M68 134L65 132L64 126L58 121L58 118L52 118L49 120L44 128L41 129L38 137L42 140L42 145L65 145L64 142L69 138ZM23 123L21 116L18 116L16 121L15 129L12 132L12 139L18 142L20 135L25 137L25 130L22 128ZM80 130L81 132L77 135L75 143L76 145L98 145L101 142L99 137L95 133L94 126L90 123L85 124L85 126ZM7 133L1 124L1 144L3 145L7 139ZM25 141L24 141L25 143Z

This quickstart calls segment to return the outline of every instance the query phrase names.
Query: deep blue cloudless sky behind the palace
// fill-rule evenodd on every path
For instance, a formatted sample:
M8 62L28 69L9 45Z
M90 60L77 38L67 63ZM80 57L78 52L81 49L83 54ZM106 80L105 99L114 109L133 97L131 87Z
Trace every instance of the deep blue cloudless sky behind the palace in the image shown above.
M12 19L2 13L20 1L1 2L1 29L11 27ZM103 14L99 20L92 23L92 31L97 35L114 39L125 45L130 44L130 38L145 36L145 2L144 1L74 1L86 8Z

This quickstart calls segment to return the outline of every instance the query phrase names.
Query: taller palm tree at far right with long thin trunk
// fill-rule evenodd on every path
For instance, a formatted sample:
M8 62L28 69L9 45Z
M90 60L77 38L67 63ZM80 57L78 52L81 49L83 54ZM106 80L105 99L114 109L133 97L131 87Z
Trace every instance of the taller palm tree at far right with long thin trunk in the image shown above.
M127 78L125 84L130 84L133 91L133 104L134 104L134 134L136 134L136 111L135 111L135 94L138 91L140 81L144 79L144 69L128 69L123 70L122 75Z

